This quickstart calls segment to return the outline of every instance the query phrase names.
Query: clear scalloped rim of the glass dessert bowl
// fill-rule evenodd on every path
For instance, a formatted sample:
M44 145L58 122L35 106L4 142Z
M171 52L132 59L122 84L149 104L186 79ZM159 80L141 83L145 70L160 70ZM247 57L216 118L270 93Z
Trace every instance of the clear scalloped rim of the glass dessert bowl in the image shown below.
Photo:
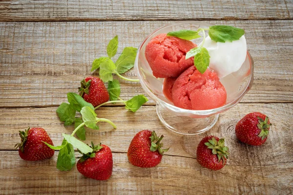
M156 95L154 95L149 90L149 88L144 83L144 79L142 78L143 73L141 72L140 68L138 67L139 54L140 54L140 51L141 51L142 47L144 46L144 44L146 42L148 42L149 39L151 39L150 37L153 34L157 33L158 31L160 31L160 30L162 30L164 28L167 28L167 27L171 27L171 26L178 25L178 24L185 24L185 23L201 24L201 25L204 25L204 26L212 25L210 23L199 22L199 21L181 21L181 22L174 22L172 24L167 24L165 26L162 26L162 27L156 29L150 35L148 35L146 37L146 39L140 44L140 46L139 46L139 48L137 50L136 59L135 59L135 63L134 63L135 73L136 73L137 77L140 80L142 88L146 91L147 95L150 98L152 98L157 104L160 104L162 107L167 108L168 110L173 111L173 112L177 113L178 115L181 115L181 116L186 115L186 116L189 116L189 117L190 117L190 115L208 117L208 116L213 115L213 114L224 112L224 111L230 109L231 107L235 106L243 98L243 96L250 90L250 88L252 86L254 62L253 62L253 59L251 58L251 55L250 55L250 53L248 51L247 51L247 58L249 59L250 64L251 64L251 71L250 71L251 73L250 73L250 78L249 78L249 81L248 81L248 84L247 84L246 88L233 101L231 101L230 103L225 104L224 106L219 107L219 108L209 109L209 110L188 110L188 109L179 108L179 107L176 107L176 106L174 106L172 104L169 104L169 103L163 101L162 99L158 98Z

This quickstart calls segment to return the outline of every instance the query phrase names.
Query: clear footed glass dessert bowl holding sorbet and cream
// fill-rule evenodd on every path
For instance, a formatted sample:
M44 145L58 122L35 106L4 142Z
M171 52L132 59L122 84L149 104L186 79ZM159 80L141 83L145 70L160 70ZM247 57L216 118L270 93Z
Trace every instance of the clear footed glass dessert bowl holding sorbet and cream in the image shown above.
M175 22L163 26L152 32L139 46L135 59L135 73L140 80L146 94L156 102L157 115L161 122L172 132L181 135L196 135L208 131L218 120L222 113L235 106L243 96L250 90L253 83L253 60L247 51L246 59L241 68L220 78L220 82L227 91L226 104L222 107L210 110L187 110L174 106L163 94L164 78L156 78L146 60L145 50L147 43L155 36L178 31L182 29L197 30L198 28L209 28L212 24L198 21ZM208 34L208 33L206 33ZM199 45L201 39L192 42Z

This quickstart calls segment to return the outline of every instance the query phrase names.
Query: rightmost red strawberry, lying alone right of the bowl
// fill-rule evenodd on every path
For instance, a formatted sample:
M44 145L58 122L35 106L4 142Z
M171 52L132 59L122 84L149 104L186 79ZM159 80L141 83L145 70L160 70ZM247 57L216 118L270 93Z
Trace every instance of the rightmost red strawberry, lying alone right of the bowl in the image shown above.
M266 115L259 112L250 113L237 122L236 137L243 143L259 146L267 140L271 125Z

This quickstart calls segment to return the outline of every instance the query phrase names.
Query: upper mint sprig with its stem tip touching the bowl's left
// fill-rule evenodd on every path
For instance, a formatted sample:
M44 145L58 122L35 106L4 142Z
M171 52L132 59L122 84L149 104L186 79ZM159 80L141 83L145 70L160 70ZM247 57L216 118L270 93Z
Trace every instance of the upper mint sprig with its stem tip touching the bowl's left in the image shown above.
M137 48L125 47L117 61L114 63L111 58L116 55L117 48L118 36L115 36L107 45L108 57L95 59L92 63L91 71L100 69L99 75L104 82L108 82L109 80L112 81L112 74L116 74L118 77L128 81L139 82L139 79L126 78L121 75L134 66Z

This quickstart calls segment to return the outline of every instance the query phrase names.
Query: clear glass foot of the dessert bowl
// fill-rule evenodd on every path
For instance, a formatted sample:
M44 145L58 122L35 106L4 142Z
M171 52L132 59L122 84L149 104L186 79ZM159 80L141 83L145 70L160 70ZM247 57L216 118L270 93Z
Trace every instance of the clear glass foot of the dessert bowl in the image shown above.
M166 111L162 106L157 104L157 115L167 129L180 135L197 135L208 131L214 126L219 118L219 114L205 118L192 118L178 116Z

